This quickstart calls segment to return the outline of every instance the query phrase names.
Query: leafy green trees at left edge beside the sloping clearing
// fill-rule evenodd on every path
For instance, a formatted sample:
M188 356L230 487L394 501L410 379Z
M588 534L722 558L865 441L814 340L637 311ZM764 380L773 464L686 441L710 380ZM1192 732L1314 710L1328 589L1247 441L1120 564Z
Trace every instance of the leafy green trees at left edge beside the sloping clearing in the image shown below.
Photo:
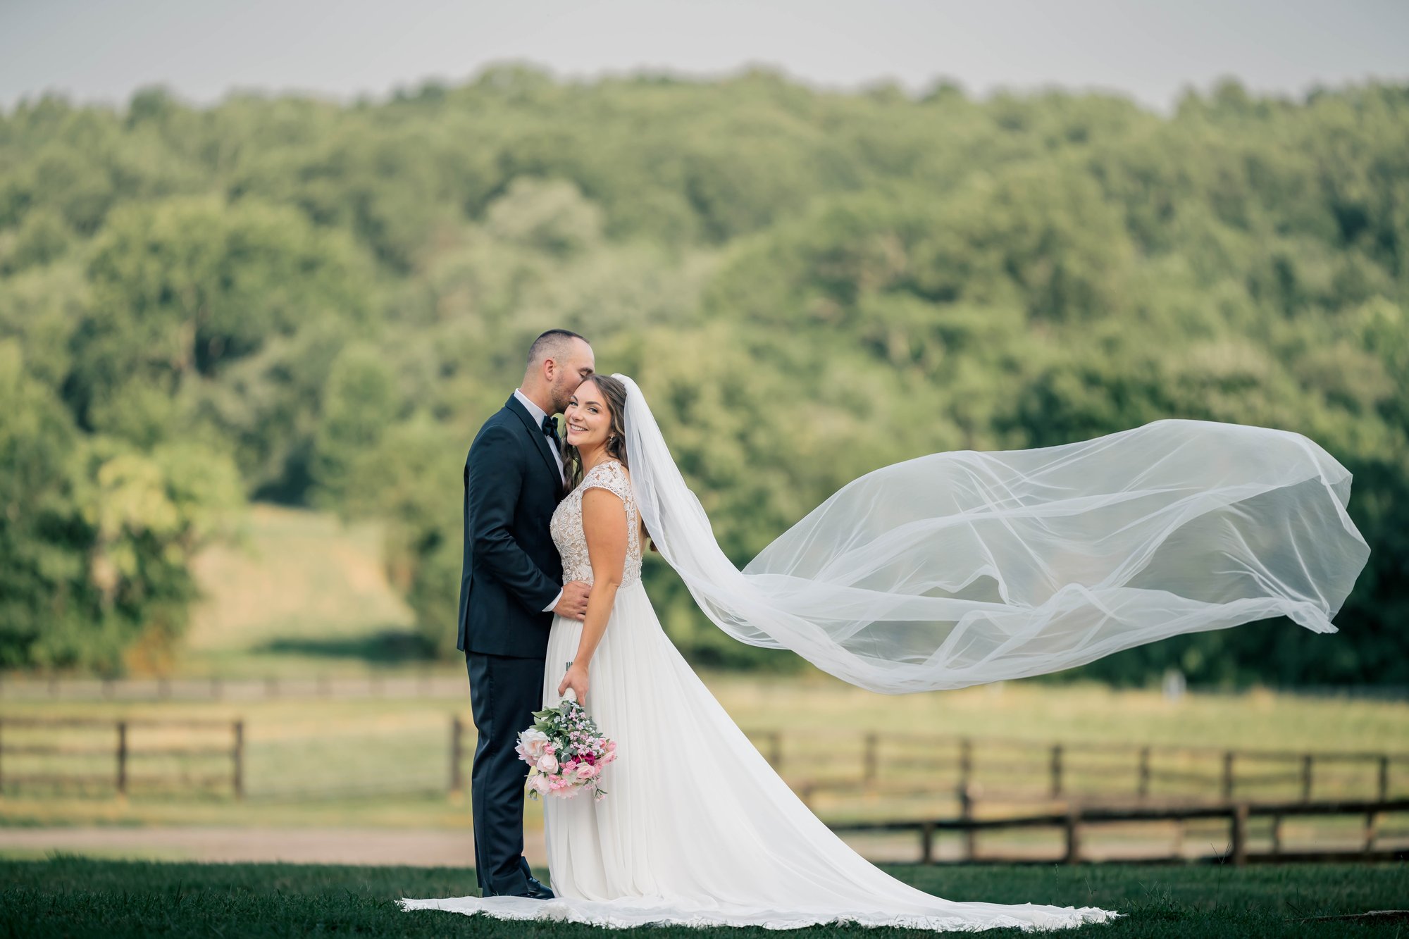
M193 556L241 502L199 444L83 437L0 344L0 661L162 670L196 595Z

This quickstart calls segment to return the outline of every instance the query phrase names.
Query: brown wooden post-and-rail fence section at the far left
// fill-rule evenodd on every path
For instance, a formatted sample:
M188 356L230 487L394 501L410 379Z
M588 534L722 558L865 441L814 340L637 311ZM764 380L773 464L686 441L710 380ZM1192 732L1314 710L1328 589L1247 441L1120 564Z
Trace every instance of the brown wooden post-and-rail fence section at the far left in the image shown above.
M210 743L211 735L227 732L228 743ZM244 720L7 716L0 718L0 794L97 788L125 797L141 788L217 791L242 799L244 753ZM227 768L210 770L213 759ZM190 761L199 764L196 771Z

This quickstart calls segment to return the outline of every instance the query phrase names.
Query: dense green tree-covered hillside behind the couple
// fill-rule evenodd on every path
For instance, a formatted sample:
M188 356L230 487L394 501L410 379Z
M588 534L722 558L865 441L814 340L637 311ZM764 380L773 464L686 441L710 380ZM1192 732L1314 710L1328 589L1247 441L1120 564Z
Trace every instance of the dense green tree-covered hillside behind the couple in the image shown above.
M454 646L461 465L528 341L651 393L740 563L844 482L1160 417L1302 431L1374 554L1339 618L1082 674L1409 684L1409 86L1169 116L769 72L495 68L337 104L0 114L0 665L161 668L249 499L387 519ZM710 664L785 668L693 612Z

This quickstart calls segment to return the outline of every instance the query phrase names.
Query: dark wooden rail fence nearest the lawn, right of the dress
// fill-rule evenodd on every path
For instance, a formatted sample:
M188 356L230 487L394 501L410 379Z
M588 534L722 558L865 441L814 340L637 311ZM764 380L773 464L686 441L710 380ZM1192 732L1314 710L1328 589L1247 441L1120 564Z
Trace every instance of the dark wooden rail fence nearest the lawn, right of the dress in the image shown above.
M1188 822L1191 819L1227 819L1229 840L1226 853L1215 853L1202 860L1231 863L1243 866L1253 861L1327 861L1327 860L1409 860L1409 849L1377 847L1379 829L1377 821L1388 812L1409 812L1409 799L1391 801L1346 801L1346 802L1281 802L1281 804L1250 804L1230 802L1223 805L1167 805L1147 808L1082 808L1071 806L1067 812L1044 815L1022 815L1013 818L951 818L924 819L899 822L847 822L834 823L831 830L837 833L861 832L917 832L920 836L920 863L936 863L934 842L940 832L958 832L962 837L962 853L960 863L1065 863L1079 864L1091 860L1082 853L1085 832L1093 825L1130 823L1130 822ZM1296 816L1364 816L1364 837L1358 850L1299 850L1286 852L1282 847L1282 819ZM1254 854L1248 850L1248 819L1271 819L1271 849L1265 853ZM976 836L979 832L998 832L1014 829L1061 829L1065 847L1060 857L1031 859L1031 857L998 857L979 856ZM1182 861L1188 860L1182 854L1177 856L1144 856L1120 857L1122 863L1131 861Z

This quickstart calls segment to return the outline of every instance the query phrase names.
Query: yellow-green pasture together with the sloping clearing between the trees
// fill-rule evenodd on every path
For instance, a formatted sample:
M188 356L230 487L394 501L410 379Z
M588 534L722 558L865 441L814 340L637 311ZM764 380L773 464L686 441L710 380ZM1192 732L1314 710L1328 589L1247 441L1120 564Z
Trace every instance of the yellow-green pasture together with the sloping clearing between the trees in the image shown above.
M410 613L386 582L379 561L380 533L371 524L345 526L337 519L294 509L256 505L240 547L207 551L199 564L206 592L197 608L189 649L180 661L186 675L302 677L356 675L418 668L406 658ZM234 802L227 792L178 798L145 787L144 775L228 774L228 759L199 760L134 757L128 798L116 798L113 728L66 730L62 744L93 750L66 757L4 754L0 825L199 825L244 828L383 828L466 830L464 798L447 792L449 726L459 715L466 726L465 753L473 747L468 685L454 663L437 665L452 677L449 696L407 699L273 698L249 701L21 701L0 704L0 718L173 719L197 718L245 723L245 790ZM981 799L1010 784L1020 773L1038 788L1047 771L1047 746L1055 742L1117 744L1179 744L1217 749L1396 750L1409 742L1409 705L1395 701L1302 698L1264 691L1189 694L1167 699L1158 691L1112 691L1098 685L1007 682L985 688L926 695L875 695L816 671L797 675L706 673L710 689L750 730L783 729L783 775L797 788L828 775L857 775L861 733L914 732L967 735L979 742L975 780ZM45 730L4 728L6 746L49 743ZM223 744L228 730L193 739L172 729L132 729L135 750ZM1026 742L991 753L995 740ZM771 747L761 744L769 751ZM106 753L104 753L106 750ZM827 794L812 797L827 819L919 816L954 812L952 747L921 754L886 744L882 775L927 795ZM1014 759L1024 768L1014 768ZM1068 753L1065 771L1079 782L1095 775L1134 781L1129 757L1120 764L1082 763ZM936 768L936 761L940 764ZM468 757L465 771L468 775ZM1217 773L1217 756L1199 766ZM1409 764L1395 764L1391 788L1409 791ZM14 785L15 774L86 773L86 791ZM1253 771L1261 771L1251 767ZM1364 767L1317 768L1317 797L1368 795ZM1358 788L1357 788L1358 787ZM1284 787L1291 792L1295 784ZM1155 795L1164 795L1158 788ZM527 825L535 828L538 808L530 804ZM1348 825L1348 828L1347 828ZM1191 843L1219 837L1195 826ZM1296 832L1301 839L1316 830ZM1344 835L1354 837L1347 822ZM1392 828L1403 828L1392 821ZM1222 845L1222 840L1217 840Z

